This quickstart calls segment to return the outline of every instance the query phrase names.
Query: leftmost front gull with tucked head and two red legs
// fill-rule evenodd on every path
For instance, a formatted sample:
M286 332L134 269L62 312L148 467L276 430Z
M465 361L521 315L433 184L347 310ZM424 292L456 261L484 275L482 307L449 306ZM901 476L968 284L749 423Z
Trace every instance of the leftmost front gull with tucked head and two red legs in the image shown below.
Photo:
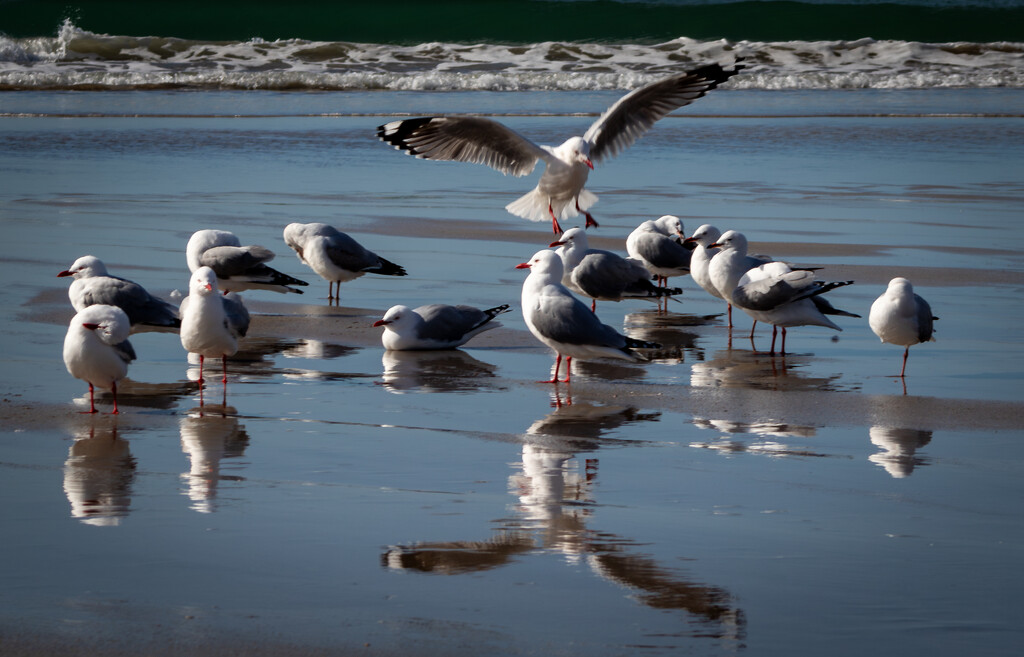
M89 412L96 412L93 386L114 394L118 414L118 382L128 374L135 350L128 342L131 322L124 310L106 304L92 305L72 317L65 337L65 366L72 377L89 384Z

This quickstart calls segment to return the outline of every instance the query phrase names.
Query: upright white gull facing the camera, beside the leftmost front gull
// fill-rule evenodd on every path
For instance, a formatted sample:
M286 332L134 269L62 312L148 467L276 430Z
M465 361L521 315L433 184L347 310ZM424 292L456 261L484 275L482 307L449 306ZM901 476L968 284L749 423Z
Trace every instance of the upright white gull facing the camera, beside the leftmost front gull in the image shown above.
M239 350L239 339L249 331L249 311L242 298L218 293L217 274L200 267L188 280L188 296L181 300L181 346L199 354L199 384L203 385L203 361L220 358L227 383L227 357Z

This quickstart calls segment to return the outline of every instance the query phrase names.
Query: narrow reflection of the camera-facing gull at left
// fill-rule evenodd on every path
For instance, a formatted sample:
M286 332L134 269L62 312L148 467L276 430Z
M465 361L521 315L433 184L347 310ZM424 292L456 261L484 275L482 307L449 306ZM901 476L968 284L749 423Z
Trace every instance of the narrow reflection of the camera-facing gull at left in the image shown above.
M249 445L249 435L236 412L231 406L208 404L181 419L181 451L191 462L191 469L181 479L188 484L184 494L193 500L191 509L199 513L216 510L220 481L241 479L220 474L221 461L242 456Z

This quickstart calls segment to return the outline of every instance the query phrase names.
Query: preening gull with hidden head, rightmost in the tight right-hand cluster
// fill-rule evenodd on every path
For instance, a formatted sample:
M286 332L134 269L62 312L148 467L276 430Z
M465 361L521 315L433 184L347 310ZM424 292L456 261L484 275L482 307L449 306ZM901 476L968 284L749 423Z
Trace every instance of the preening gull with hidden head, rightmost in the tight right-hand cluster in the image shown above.
M728 234L728 233L726 233ZM716 256L716 259L721 257ZM714 261L713 261L714 262ZM833 307L821 295L837 288L852 284L852 280L839 282L818 281L814 272L793 269L784 262L770 262L751 269L740 276L729 297L733 305L742 309L757 321L772 325L771 351L775 353L775 337L782 330L782 350L785 355L785 330L790 326L825 326L843 331L825 315L860 315Z

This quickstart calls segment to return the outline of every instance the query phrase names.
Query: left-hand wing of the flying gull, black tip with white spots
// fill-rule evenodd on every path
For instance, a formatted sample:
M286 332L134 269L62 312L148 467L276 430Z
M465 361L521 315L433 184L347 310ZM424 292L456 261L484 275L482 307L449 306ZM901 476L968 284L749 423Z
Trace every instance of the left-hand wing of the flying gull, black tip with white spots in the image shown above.
M392 121L377 136L422 160L482 164L514 176L525 176L548 152L497 121L479 117L425 117Z

